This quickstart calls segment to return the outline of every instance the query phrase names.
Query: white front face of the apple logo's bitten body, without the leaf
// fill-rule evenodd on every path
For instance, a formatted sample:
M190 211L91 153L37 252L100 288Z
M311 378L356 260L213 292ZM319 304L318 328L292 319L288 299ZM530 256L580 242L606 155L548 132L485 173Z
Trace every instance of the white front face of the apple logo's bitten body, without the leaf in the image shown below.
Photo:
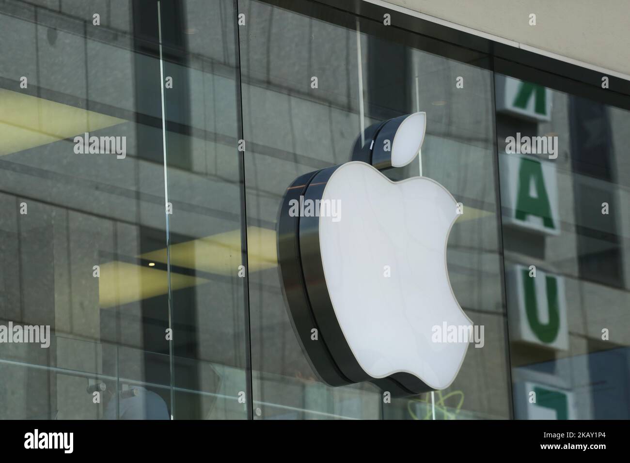
M446 264L457 202L429 178L394 182L360 161L337 168L321 199L341 206L338 218L319 217L319 246L331 304L358 364L375 379L406 372L445 389L468 343L434 342L432 329L472 325Z

